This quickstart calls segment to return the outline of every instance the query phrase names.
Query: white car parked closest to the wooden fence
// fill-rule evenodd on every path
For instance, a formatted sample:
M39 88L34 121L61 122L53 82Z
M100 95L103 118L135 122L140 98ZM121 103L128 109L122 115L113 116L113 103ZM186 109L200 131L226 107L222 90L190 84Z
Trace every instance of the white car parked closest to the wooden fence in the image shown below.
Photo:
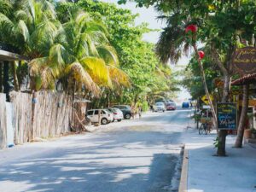
M99 122L99 111L101 111L101 124L106 125L113 121L113 113L109 113L106 109L90 109L87 111L87 117L91 123Z

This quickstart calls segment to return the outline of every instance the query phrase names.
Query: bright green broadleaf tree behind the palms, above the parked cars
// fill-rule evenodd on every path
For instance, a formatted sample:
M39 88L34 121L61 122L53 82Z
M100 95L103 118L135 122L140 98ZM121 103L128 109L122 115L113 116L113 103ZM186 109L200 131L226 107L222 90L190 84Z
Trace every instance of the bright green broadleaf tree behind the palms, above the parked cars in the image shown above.
M61 20L67 20L67 8L84 9L107 26L109 42L119 55L119 65L131 79L131 87L105 90L105 99L96 105L110 102L143 102L154 99L161 92L174 90L169 67L161 66L154 54L154 44L143 42L143 34L149 32L146 24L134 26L137 15L130 10L118 9L112 3L79 1L59 3L57 9Z

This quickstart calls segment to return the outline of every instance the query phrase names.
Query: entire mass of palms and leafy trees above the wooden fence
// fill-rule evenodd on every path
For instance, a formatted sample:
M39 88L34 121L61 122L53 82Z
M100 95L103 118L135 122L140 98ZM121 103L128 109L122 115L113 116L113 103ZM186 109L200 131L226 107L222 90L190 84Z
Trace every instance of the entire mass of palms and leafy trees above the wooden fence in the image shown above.
M15 64L19 81L28 67L31 90L79 93L96 106L176 90L154 44L142 40L147 24L134 26L137 15L111 3L69 2L0 0L0 42L29 58Z

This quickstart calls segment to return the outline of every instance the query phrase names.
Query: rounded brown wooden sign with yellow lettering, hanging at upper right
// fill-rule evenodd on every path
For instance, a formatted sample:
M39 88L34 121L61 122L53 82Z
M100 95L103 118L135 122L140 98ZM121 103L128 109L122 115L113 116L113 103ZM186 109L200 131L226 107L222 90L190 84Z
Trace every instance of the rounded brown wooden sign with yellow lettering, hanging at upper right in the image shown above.
M256 73L256 48L237 49L232 57L232 63L236 72L241 75Z

